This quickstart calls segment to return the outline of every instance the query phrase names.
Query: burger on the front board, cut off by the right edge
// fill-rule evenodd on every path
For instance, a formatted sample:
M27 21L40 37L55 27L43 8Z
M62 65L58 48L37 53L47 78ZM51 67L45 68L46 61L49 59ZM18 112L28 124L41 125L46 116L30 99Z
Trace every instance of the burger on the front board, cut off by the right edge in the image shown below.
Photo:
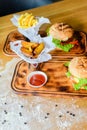
M67 67L66 75L71 79L75 90L87 90L87 57L74 57Z

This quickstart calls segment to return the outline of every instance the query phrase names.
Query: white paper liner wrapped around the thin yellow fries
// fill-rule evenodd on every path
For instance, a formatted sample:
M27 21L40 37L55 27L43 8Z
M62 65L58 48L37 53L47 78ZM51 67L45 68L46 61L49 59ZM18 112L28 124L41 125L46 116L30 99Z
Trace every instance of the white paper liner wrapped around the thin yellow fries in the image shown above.
M18 31L23 34L25 37L27 37L31 41L37 42L37 38L40 38L40 35L38 35L38 31L41 25L45 23L50 23L50 20L48 18L44 17L36 17L37 18L37 24L35 26L29 27L27 29L20 28L18 25L18 18L20 15L14 15L11 19L12 23L18 27Z

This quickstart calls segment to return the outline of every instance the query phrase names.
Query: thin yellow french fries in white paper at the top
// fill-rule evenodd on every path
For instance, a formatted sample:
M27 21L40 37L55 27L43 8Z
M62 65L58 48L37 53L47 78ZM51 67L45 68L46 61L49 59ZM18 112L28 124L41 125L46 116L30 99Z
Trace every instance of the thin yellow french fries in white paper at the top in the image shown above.
M18 19L18 25L21 28L28 28L36 25L37 19L31 13L22 14Z

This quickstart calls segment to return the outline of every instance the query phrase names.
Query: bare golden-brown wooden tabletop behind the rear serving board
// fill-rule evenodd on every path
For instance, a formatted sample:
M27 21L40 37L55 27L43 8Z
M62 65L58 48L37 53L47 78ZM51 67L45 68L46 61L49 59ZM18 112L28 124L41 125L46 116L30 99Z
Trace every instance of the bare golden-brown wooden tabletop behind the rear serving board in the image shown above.
M36 16L44 16L51 20L52 23L55 22L67 22L73 26L73 28L87 32L87 1L83 0L64 0L61 2L56 2L47 6L42 6L39 8L26 10L27 12L32 12ZM18 12L22 14L26 11ZM16 29L16 27L11 23L10 19L13 14L7 15L0 18L0 52L2 52L2 47L5 42L7 35ZM0 54L0 58L2 54ZM3 60L10 60L8 57L3 56ZM5 62L5 61L4 61ZM6 62L5 62L6 63Z

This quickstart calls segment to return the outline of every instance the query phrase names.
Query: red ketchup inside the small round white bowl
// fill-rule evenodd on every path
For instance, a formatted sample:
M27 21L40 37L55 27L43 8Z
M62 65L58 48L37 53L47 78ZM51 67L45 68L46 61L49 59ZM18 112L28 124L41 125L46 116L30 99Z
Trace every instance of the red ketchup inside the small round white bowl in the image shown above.
M42 74L34 74L30 78L30 84L34 86L39 86L45 82L45 77Z

